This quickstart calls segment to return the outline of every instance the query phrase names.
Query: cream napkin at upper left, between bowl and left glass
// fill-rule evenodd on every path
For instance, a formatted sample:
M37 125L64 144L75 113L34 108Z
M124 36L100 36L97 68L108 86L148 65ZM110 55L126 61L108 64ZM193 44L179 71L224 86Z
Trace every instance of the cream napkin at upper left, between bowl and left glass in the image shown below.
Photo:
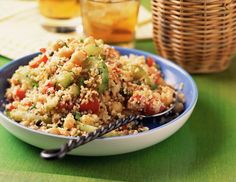
M59 34L46 31L39 23L37 9L31 9L0 22L0 54L12 59L38 52L49 42L77 34Z

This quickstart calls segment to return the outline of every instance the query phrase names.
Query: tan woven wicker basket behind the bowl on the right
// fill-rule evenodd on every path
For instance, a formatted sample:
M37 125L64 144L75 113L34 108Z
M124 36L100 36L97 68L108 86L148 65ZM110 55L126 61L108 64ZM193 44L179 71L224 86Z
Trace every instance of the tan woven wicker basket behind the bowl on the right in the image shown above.
M191 73L225 70L236 48L236 0L152 0L159 54Z

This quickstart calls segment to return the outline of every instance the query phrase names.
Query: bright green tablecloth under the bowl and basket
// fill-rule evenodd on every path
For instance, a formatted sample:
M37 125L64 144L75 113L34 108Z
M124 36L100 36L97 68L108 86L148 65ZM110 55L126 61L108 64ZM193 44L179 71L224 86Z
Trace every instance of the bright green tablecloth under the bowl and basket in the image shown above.
M152 41L136 48L155 52ZM0 57L0 66L8 61ZM236 58L223 73L193 75L199 100L189 121L164 142L134 153L45 161L40 149L0 126L0 181L235 181L235 70Z

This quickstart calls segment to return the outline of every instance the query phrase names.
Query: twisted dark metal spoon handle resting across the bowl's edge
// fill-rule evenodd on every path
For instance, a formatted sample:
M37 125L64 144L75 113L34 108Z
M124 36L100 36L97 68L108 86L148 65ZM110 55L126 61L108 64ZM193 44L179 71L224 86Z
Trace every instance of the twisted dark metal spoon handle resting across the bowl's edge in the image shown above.
M85 136L80 136L78 139L71 139L67 143L61 146L60 149L46 149L43 150L40 154L40 156L44 159L58 159L64 157L68 152L71 150L84 145L92 140L95 140L96 138L103 136L106 133L109 133L110 131L119 128L122 125L125 125L127 123L130 123L135 120L142 119L142 116L135 115L135 116L128 116L123 119L118 119L115 122L109 123L106 126L103 126L101 128L96 129L93 132L88 133Z

